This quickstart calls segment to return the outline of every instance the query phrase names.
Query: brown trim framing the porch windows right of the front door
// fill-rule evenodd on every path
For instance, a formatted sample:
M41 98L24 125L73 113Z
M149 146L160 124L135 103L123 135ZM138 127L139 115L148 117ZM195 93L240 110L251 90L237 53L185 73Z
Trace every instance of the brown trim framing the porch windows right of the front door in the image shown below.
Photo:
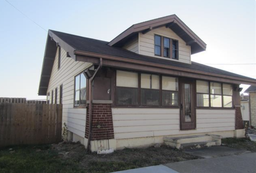
M198 81L206 81L206 80L200 80L200 79L197 79ZM224 83L221 83L221 90L222 90L222 94L211 94L211 86L210 86L210 83L211 82L215 82L215 81L206 81L208 82L208 88L209 88L209 93L202 93L202 92L196 92L196 94L208 94L209 96L209 106L196 106L196 109L234 109L234 97L232 95L232 107L224 107L224 103L223 103L223 96L231 96L231 95L223 95L223 84ZM220 82L215 82L215 83L220 83ZM228 84L228 83L225 83L225 84ZM232 85L232 84L229 84L229 85ZM232 85L233 86L233 85ZM218 95L218 96L221 96L221 99L222 99L222 107L212 107L211 106L211 95ZM197 103L196 103L197 104Z

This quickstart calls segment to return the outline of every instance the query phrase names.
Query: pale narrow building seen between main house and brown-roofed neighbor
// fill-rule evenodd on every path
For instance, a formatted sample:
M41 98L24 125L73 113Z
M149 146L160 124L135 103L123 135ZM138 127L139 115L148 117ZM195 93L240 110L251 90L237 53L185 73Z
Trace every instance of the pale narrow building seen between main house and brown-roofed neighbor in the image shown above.
M244 121L244 126L250 126L250 110L249 110L249 96L241 95L241 112Z

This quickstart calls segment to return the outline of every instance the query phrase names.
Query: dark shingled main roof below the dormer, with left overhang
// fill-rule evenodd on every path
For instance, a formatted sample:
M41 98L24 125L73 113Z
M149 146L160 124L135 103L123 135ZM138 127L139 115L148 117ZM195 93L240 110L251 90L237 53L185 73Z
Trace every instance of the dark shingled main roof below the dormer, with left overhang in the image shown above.
M60 45L60 47L62 47L65 51L67 51L68 56L72 57L73 59L76 59L77 51L91 52L91 53L97 53L97 54L106 55L106 56L110 55L114 57L121 57L124 59L133 59L133 60L139 60L143 62L160 64L160 65L165 65L173 68L178 67L184 70L190 69L195 72L205 72L211 75L215 74L215 75L223 75L224 77L236 77L241 80L244 79L244 81L246 81L246 79L255 80L250 77L245 77L235 73L230 73L228 71L224 71L221 69L196 63L193 61L191 62L191 64L187 64L187 63L180 63L177 61L171 61L168 59L160 59L160 58L149 57L145 55L139 55L137 53L128 51L120 47L109 46L108 43L109 42L107 41L101 41L101 40L81 37L81 36L73 35L69 33L49 30L45 53L44 53L44 61L42 65L42 72L41 72L38 94L46 95L49 80L50 80L50 74L52 71L52 65L56 55L56 50L57 50L56 45Z

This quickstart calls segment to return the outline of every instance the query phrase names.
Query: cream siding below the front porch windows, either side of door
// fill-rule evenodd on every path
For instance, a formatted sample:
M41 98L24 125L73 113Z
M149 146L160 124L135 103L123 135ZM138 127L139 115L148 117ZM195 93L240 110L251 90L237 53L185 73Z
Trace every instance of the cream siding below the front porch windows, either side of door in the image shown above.
M196 130L179 130L179 109L112 108L115 139L235 130L235 110L197 109Z

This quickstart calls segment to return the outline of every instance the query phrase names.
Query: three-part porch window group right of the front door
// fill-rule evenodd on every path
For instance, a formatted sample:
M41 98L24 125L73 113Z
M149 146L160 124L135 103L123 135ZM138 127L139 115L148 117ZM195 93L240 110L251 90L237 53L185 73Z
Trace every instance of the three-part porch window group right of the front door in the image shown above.
M196 92L198 107L232 108L233 106L233 89L230 84L196 81Z

